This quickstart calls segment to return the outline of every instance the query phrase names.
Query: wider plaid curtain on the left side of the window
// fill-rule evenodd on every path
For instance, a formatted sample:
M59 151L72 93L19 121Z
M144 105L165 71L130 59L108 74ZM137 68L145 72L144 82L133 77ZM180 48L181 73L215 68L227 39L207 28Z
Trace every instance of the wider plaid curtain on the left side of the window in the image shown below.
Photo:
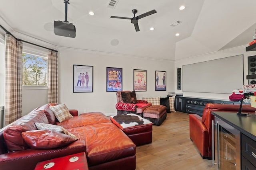
M22 41L6 34L4 123L22 117Z

